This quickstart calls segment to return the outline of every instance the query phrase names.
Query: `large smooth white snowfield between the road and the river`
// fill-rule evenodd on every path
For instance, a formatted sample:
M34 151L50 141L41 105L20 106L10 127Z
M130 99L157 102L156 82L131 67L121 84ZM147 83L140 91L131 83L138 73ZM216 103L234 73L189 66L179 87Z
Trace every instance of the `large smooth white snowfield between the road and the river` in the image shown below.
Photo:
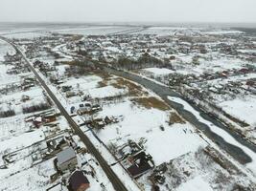
M105 106L98 117L119 115L124 117L123 121L106 126L98 136L105 144L117 145L121 144L119 139L125 141L146 138L148 141L145 143L145 147L156 165L196 151L199 146L206 145L190 124L177 123L170 126L168 124L170 111L138 107L129 100Z

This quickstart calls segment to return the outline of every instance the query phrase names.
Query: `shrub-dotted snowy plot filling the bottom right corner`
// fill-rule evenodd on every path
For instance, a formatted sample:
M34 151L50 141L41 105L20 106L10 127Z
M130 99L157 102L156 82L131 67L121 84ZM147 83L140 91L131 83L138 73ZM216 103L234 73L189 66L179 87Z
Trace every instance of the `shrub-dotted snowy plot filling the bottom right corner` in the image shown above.
M156 167L150 180L160 190L253 190L255 183L247 180L235 166L221 160L212 148L198 149Z

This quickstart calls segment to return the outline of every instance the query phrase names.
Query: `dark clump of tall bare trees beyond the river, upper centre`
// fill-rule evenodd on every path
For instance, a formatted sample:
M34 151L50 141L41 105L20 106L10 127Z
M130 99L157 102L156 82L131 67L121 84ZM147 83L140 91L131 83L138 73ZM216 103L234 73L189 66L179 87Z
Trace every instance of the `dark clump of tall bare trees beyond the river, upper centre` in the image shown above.
M161 60L158 59L149 53L144 53L139 58L134 59L126 56L121 56L117 59L116 62L112 63L112 66L117 69L126 69L126 70L139 70L144 68L168 68L172 69L172 64L168 59Z

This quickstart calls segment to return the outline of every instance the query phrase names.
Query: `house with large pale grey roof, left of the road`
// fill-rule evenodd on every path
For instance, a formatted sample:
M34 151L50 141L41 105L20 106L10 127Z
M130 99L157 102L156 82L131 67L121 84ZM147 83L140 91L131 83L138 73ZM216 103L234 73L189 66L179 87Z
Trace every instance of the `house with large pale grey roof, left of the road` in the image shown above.
M58 168L61 171L74 170L78 164L76 153L72 147L68 147L57 154Z

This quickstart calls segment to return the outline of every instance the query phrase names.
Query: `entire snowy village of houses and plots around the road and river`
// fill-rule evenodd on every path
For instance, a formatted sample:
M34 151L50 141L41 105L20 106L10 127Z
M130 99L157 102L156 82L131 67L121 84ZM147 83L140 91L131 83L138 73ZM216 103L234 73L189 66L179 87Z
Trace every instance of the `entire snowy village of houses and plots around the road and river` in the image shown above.
M160 27L36 35L5 37L128 190L256 189L255 153L234 159L156 92L118 75L175 91L255 144L255 35ZM0 42L1 189L116 190L24 58Z

